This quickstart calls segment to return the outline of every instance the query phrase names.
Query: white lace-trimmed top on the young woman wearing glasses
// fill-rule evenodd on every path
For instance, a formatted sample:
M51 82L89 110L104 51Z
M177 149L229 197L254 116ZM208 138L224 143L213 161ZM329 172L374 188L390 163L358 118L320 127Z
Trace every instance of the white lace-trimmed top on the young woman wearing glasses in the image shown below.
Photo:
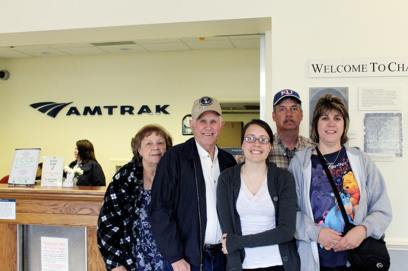
M254 196L246 187L241 176L237 211L240 216L242 235L260 233L276 227L275 208L268 192L266 177L259 192ZM278 245L244 249L245 259L242 263L244 269L283 264Z

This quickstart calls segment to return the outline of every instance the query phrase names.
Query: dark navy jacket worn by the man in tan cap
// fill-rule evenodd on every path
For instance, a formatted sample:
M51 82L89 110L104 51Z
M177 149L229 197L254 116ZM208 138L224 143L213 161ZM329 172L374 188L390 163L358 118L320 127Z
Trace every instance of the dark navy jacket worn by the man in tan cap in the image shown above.
M218 149L220 171L237 164ZM199 206L199 207L198 207ZM170 263L185 259L200 266L207 224L206 183L194 138L170 148L160 160L149 219L156 245Z

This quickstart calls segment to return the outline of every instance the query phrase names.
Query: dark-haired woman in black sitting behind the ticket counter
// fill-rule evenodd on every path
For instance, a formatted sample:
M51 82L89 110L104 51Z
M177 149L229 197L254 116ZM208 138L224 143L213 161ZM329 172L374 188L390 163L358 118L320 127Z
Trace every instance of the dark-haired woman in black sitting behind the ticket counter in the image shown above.
M92 143L86 139L77 141L73 153L76 160L68 166L70 168L80 167L84 171L77 177L77 186L105 186L105 174L96 161Z

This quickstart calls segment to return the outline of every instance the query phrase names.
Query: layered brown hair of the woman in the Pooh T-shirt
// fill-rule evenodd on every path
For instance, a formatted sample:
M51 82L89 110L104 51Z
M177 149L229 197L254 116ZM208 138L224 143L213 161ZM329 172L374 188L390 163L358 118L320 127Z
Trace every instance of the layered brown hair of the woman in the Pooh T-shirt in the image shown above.
M345 144L348 140L347 131L348 131L348 125L350 123L350 117L348 115L348 108L341 98L337 96L332 96L331 94L324 95L316 102L315 111L313 112L312 129L310 130L310 138L316 143L319 143L319 133L317 131L317 123L319 121L319 118L323 114L327 114L331 110L338 111L339 114L341 114L344 119L344 131L343 131L343 134L341 135L340 142L342 144Z

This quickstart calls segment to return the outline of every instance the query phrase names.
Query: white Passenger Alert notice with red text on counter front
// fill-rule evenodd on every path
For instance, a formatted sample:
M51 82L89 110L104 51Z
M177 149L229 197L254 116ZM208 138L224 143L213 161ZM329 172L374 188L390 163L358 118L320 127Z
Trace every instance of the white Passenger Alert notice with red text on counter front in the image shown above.
M41 237L41 271L68 271L68 238Z

